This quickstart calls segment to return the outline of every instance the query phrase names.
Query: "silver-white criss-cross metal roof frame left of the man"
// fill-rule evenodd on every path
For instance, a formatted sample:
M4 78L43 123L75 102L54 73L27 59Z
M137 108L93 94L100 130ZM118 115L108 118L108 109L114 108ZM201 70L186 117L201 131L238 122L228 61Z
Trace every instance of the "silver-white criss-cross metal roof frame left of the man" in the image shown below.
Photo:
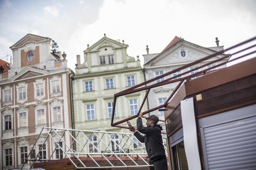
M59 133L62 133L60 135ZM73 135L74 134L74 135ZM117 135L119 142L116 143L115 140L113 139L114 137L111 138L110 134L114 134L114 137ZM54 135L58 136L58 140L54 139ZM89 135L89 136L88 136ZM68 137L72 138L71 144L68 144L63 137ZM91 136L96 136L97 138L97 145L94 145L89 138ZM39 151L36 154L36 157L34 159L30 159L29 156L33 149L36 149L36 146L38 144L38 139L40 137L44 137L44 143L39 149ZM84 143L79 142L77 139L78 137L83 137L86 140ZM21 169L25 165L27 161L33 161L34 163L40 162L40 161L49 161L49 160L58 160L58 159L53 159L52 156L54 152L56 151L57 147L62 151L63 158L68 158L69 161L76 167L76 169L106 169L106 168L113 168L113 167L138 167L138 166L153 166L149 165L148 162L142 158L142 156L148 156L146 150L145 150L145 145L141 143L139 140L137 148L133 148L134 144L134 139L137 139L133 134L131 133L119 133L119 132L106 132L106 131L86 131L86 130L75 130L75 129L60 129L60 128L49 128L49 127L43 127L40 134L36 138L36 142L31 148L26 160L24 161L24 164L22 165ZM48 153L50 155L50 158L48 159L40 159L39 153L41 152L43 145L45 144L46 141L52 140L56 145L52 147L52 145L48 145L48 147L52 147L52 152ZM62 147L60 147L60 142L62 142ZM101 143L101 145L99 145ZM91 145L93 150L92 152L87 152L88 145ZM109 145L116 145L116 149L113 150L109 147ZM164 144L164 149L165 153L167 155L167 148L166 148L166 137L163 137L163 144ZM77 148L74 148L74 146L77 146ZM48 148L46 148L48 149ZM49 149L48 149L49 150ZM51 149L50 149L51 151ZM128 157L129 160L133 162L134 165L128 166L120 159L120 157ZM139 157L140 160L143 160L144 165L139 165L136 163L133 159L132 156ZM72 159L74 157L74 159ZM81 157L89 157L95 164L95 166L85 166L84 162L80 159ZM97 163L97 160L95 160L95 157L103 157L109 164L109 166L100 166L99 163ZM123 164L123 166L115 166L112 164L109 160L108 157L116 157L119 162ZM76 162L80 163L80 166L77 166ZM30 166L32 168L33 165Z

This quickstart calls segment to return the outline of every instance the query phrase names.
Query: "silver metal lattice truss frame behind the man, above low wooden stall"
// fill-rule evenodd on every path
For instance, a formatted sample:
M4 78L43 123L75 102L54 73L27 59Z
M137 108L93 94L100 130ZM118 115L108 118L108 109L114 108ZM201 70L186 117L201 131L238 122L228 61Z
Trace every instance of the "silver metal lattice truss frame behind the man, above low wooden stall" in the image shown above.
M40 142L38 140L42 138L44 139L43 143L42 140ZM71 139L72 142L68 143L65 139ZM48 144L48 148L45 147L45 144ZM166 137L163 137L163 144L167 155ZM46 158L46 150L49 152L49 158ZM36 151L34 155L33 151ZM144 143L137 140L131 133L56 129L48 127L44 127L41 130L23 166L27 161L32 161L34 164L42 161L58 160L56 155L58 155L59 159L68 158L77 169L152 166L147 162L148 159L145 159L148 155ZM82 159L84 157L89 157L89 160L93 162L93 166L86 165L86 161ZM99 157L107 161L108 166L101 166L96 159ZM111 163L109 159L111 157L116 158L120 164ZM130 162L132 161L133 165L127 165L127 163L122 160L122 157L126 157ZM139 160L142 160L143 164L138 164L132 157L137 157Z

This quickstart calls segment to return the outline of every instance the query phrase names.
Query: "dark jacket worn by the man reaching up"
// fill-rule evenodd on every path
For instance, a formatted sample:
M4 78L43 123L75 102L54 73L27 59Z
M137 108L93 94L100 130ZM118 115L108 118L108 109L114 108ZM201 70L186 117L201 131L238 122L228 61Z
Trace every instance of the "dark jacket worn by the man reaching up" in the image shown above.
M163 139L161 135L161 131L163 130L163 128L159 124L151 127L143 127L142 119L141 117L138 117L137 130L140 133L145 134L145 136L140 135L138 131L134 133L134 135L140 142L145 143L149 159L152 159L155 156L165 155Z

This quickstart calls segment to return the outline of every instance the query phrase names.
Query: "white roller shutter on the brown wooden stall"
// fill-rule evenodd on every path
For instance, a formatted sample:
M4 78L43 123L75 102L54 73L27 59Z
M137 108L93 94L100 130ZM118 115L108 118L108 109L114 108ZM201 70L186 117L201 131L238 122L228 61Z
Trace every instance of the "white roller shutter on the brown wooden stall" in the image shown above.
M210 170L256 170L256 117L204 128L204 139Z

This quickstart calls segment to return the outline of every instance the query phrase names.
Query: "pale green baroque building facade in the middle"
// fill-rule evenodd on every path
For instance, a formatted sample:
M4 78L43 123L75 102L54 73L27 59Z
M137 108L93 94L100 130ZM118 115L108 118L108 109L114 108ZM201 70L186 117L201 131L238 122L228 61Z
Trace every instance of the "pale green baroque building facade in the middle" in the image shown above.
M84 50L84 63L77 55L76 74L73 81L73 105L75 129L93 131L129 132L127 129L111 127L114 94L145 81L140 60L128 56L128 45L110 39L102 39ZM138 113L145 92L117 98L114 122ZM143 110L147 110L147 104ZM136 126L136 120L131 121ZM127 126L127 123L125 124ZM88 135L95 144L96 136ZM113 136L119 143L121 140ZM83 143L84 137L79 138ZM105 141L109 142L109 141ZM136 143L136 141L134 141ZM110 145L112 150L116 146ZM136 144L134 145L136 146ZM90 151L92 145L87 146Z

